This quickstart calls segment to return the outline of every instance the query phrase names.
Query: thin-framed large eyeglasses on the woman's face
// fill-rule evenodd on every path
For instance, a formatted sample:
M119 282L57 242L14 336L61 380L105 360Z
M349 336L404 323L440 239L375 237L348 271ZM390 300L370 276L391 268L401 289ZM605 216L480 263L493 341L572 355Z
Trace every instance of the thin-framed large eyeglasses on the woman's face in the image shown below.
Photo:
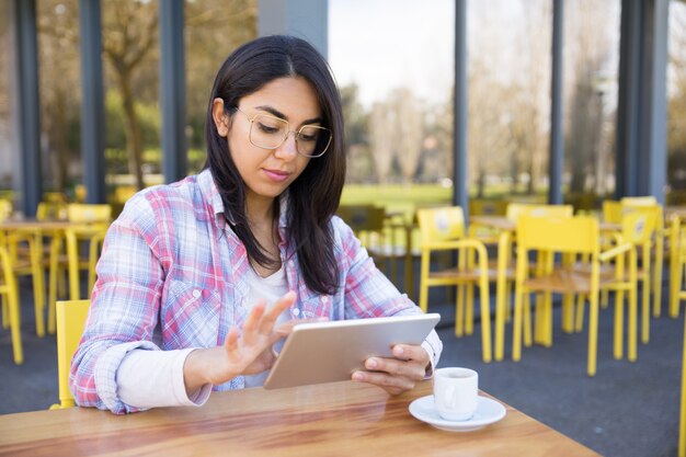
M302 157L321 157L331 144L331 130L319 125L304 125L298 132L290 130L288 121L270 114L255 114L250 117L240 108L250 121L249 139L253 146L262 149L276 149L286 141L289 133L296 137L296 150Z

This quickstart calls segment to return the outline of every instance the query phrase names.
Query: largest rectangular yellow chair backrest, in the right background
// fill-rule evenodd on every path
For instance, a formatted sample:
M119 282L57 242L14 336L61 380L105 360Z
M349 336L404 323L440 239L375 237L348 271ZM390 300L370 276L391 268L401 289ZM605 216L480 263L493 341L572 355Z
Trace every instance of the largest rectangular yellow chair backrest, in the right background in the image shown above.
M517 243L526 249L594 254L599 252L598 240L598 220L592 216L517 219Z

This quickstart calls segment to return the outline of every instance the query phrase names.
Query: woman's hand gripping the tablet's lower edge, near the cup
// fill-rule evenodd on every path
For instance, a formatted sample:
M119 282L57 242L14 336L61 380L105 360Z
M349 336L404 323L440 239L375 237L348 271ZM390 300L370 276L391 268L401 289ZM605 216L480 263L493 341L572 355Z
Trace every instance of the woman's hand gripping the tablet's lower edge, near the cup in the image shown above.
M413 389L424 379L430 359L421 345L397 344L393 357L369 357L365 361L367 370L353 373L353 380L379 386L390 395L399 395Z

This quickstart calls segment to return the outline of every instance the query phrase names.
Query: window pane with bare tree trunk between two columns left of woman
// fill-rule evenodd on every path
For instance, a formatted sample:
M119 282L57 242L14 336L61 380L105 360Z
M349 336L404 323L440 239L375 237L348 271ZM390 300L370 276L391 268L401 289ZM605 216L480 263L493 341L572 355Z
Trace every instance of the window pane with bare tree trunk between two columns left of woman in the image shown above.
M163 182L158 10L155 0L102 2L106 181L115 196Z

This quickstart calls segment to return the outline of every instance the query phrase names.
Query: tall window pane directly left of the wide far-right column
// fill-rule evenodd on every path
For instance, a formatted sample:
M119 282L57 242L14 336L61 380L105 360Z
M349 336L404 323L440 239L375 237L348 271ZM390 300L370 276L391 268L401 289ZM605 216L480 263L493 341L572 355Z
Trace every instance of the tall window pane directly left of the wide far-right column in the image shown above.
M564 2L564 197L592 209L615 191L619 0Z

